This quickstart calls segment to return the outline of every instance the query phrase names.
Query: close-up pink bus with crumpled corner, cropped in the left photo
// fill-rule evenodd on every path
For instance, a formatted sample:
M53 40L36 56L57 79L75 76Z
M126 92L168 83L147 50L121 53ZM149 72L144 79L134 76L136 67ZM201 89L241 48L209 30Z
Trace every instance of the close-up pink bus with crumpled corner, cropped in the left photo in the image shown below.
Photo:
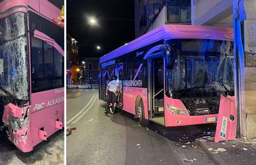
M23 152L62 129L64 1L0 1L0 124Z

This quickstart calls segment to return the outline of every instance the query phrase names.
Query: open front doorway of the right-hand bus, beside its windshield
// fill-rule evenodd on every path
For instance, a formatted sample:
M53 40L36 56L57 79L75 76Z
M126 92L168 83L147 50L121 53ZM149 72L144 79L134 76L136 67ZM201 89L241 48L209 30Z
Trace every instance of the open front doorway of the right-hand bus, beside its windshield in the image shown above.
M148 59L148 103L150 120L164 125L164 61Z

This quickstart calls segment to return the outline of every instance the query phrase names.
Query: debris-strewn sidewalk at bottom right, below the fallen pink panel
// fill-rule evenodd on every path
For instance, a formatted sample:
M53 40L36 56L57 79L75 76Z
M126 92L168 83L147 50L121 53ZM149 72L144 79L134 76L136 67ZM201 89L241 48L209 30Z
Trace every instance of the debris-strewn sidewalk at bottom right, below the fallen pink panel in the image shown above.
M196 140L215 164L256 164L256 138L214 142L213 137Z

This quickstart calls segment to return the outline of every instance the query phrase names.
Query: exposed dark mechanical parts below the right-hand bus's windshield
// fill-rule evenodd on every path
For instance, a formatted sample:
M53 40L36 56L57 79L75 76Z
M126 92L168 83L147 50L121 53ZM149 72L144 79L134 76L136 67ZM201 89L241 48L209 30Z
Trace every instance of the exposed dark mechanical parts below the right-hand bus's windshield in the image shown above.
M190 115L218 114L220 97L181 99Z

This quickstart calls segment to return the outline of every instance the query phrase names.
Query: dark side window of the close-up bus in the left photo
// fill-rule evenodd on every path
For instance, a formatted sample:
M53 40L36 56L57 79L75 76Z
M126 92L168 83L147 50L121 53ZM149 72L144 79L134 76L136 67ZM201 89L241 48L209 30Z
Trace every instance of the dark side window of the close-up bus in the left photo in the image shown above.
M53 44L32 37L32 93L64 87L64 57Z

